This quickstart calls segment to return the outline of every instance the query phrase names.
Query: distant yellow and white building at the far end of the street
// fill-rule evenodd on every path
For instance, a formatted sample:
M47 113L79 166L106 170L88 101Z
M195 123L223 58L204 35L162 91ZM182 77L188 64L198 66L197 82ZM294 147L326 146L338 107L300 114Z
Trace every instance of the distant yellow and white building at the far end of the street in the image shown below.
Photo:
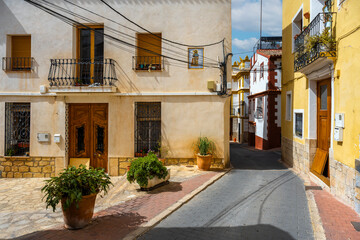
M235 61L232 67L230 140L243 143L248 141L249 57L240 57L240 61Z

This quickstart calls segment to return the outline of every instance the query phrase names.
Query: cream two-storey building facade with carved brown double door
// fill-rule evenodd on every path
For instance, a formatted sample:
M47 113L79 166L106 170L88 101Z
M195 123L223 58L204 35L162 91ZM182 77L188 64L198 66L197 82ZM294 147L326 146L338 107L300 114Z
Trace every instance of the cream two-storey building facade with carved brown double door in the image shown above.
M149 150L196 164L199 136L215 142L213 166L228 166L230 100L207 81L223 73L230 0L180 2L111 3L139 28L100 1L0 1L1 176L71 162L116 176Z

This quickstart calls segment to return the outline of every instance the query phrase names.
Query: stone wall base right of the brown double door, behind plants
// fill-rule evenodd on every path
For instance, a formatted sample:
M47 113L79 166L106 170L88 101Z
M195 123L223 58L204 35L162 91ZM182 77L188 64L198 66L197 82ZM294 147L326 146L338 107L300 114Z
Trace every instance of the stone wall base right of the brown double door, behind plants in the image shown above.
M122 176L126 174L127 167L130 166L133 157L111 157L109 158L109 174L110 176ZM170 165L196 165L196 158L166 158L164 159L165 166ZM211 168L223 169L223 159L213 158Z

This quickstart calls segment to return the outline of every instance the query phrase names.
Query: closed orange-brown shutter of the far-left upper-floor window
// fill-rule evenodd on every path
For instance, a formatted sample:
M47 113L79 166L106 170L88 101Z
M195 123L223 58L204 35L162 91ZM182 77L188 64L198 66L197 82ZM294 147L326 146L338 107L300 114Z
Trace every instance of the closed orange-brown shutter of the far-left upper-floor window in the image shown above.
M11 58L13 69L31 68L31 36L11 37Z

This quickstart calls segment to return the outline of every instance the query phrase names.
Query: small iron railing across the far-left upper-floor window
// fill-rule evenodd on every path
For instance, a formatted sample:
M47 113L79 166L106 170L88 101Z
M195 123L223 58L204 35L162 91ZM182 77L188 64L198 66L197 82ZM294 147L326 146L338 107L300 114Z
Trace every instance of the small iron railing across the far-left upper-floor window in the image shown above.
M3 57L2 69L4 71L31 71L34 66L32 57Z

